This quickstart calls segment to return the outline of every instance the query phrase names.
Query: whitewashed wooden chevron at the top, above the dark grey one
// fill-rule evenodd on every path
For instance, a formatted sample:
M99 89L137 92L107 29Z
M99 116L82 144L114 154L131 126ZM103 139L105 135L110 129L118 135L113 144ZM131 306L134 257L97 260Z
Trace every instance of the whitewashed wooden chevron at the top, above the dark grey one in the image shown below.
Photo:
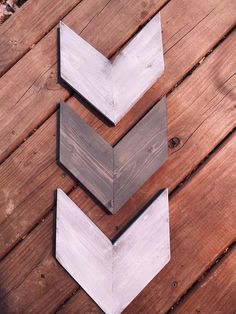
M60 75L114 124L164 72L160 14L109 60L60 23Z

